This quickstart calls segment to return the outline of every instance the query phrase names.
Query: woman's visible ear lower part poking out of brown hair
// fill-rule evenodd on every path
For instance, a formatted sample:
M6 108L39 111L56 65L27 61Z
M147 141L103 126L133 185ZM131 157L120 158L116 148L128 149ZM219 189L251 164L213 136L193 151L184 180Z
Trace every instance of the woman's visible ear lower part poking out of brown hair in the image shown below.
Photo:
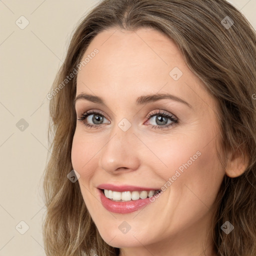
M245 150L236 149L228 154L225 173L228 177L240 176L248 166L248 156Z

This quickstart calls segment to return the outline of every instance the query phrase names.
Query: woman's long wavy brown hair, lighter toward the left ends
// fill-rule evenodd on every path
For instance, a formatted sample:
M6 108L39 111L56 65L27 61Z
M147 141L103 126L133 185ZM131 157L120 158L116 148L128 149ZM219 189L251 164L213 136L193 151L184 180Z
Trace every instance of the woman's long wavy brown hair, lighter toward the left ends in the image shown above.
M226 16L234 22L230 28L221 23ZM241 12L225 0L103 0L76 26L51 87L58 91L49 102L51 154L43 177L46 255L119 254L119 248L101 238L78 182L67 178L73 169L76 75L59 87L66 76L75 73L99 32L108 28L135 31L142 27L171 38L187 66L215 98L221 163L225 164L228 152L247 157L241 175L223 177L215 199L211 236L218 256L256 255L256 35ZM220 229L225 221L234 226L228 235Z

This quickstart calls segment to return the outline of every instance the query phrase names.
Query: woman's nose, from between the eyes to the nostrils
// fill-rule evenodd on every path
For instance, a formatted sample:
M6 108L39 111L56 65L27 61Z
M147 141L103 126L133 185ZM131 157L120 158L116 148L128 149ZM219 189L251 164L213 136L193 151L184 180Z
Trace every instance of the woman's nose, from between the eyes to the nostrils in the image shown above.
M140 164L138 151L138 139L133 134L132 126L123 131L115 125L99 152L99 167L114 175L124 170L134 171Z

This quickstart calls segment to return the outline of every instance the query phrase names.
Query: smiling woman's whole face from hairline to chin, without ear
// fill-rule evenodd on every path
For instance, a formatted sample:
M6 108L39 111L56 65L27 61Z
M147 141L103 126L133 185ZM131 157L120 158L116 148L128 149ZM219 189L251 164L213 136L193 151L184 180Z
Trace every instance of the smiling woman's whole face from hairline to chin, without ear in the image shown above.
M104 30L82 60L87 55L77 74L71 160L100 235L121 248L170 238L197 244L224 176L214 99L154 29Z

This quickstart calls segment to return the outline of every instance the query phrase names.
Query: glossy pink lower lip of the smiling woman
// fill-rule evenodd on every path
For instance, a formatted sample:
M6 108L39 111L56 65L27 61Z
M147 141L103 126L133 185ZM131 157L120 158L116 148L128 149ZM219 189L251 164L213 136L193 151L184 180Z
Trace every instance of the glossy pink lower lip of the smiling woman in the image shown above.
M130 213L150 203L149 197L145 199L137 199L134 201L130 200L130 201L123 201L123 202L116 202L105 197L105 195L100 189L99 189L99 192L100 192L100 200L102 205L108 211L115 212L115 213L123 213L123 214Z

